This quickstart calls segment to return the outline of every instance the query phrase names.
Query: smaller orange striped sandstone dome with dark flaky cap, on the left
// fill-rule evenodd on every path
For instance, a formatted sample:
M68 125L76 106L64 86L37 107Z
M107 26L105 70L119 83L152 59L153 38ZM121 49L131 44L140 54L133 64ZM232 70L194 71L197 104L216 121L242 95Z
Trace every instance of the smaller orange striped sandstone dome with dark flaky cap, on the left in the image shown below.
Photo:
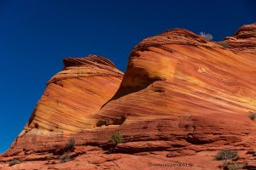
M78 133L91 128L91 116L113 97L123 77L110 60L96 55L63 63L63 71L49 80L26 132Z

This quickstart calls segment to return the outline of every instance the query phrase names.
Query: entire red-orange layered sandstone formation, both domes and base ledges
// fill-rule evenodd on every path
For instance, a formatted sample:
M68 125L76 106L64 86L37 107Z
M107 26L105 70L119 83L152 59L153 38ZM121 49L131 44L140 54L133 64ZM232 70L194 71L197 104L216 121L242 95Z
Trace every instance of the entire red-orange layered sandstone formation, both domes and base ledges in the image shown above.
M224 38L226 48L184 29L165 31L137 44L124 77L99 56L64 59L64 70L49 80L0 160L18 158L18 169L52 163L58 169L155 169L154 163L218 169L222 162L214 155L230 149L253 167L256 124L248 114L256 113L255 38L255 24ZM113 149L114 131L124 142ZM71 137L73 161L60 164Z

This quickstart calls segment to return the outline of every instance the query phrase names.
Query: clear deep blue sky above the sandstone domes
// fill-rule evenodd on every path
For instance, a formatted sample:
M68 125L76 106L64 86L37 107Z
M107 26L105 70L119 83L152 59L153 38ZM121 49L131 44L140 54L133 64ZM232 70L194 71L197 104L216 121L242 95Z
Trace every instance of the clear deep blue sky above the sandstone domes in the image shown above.
M0 0L0 152L25 126L63 57L102 55L125 71L145 37L182 27L218 41L255 21L249 0Z

